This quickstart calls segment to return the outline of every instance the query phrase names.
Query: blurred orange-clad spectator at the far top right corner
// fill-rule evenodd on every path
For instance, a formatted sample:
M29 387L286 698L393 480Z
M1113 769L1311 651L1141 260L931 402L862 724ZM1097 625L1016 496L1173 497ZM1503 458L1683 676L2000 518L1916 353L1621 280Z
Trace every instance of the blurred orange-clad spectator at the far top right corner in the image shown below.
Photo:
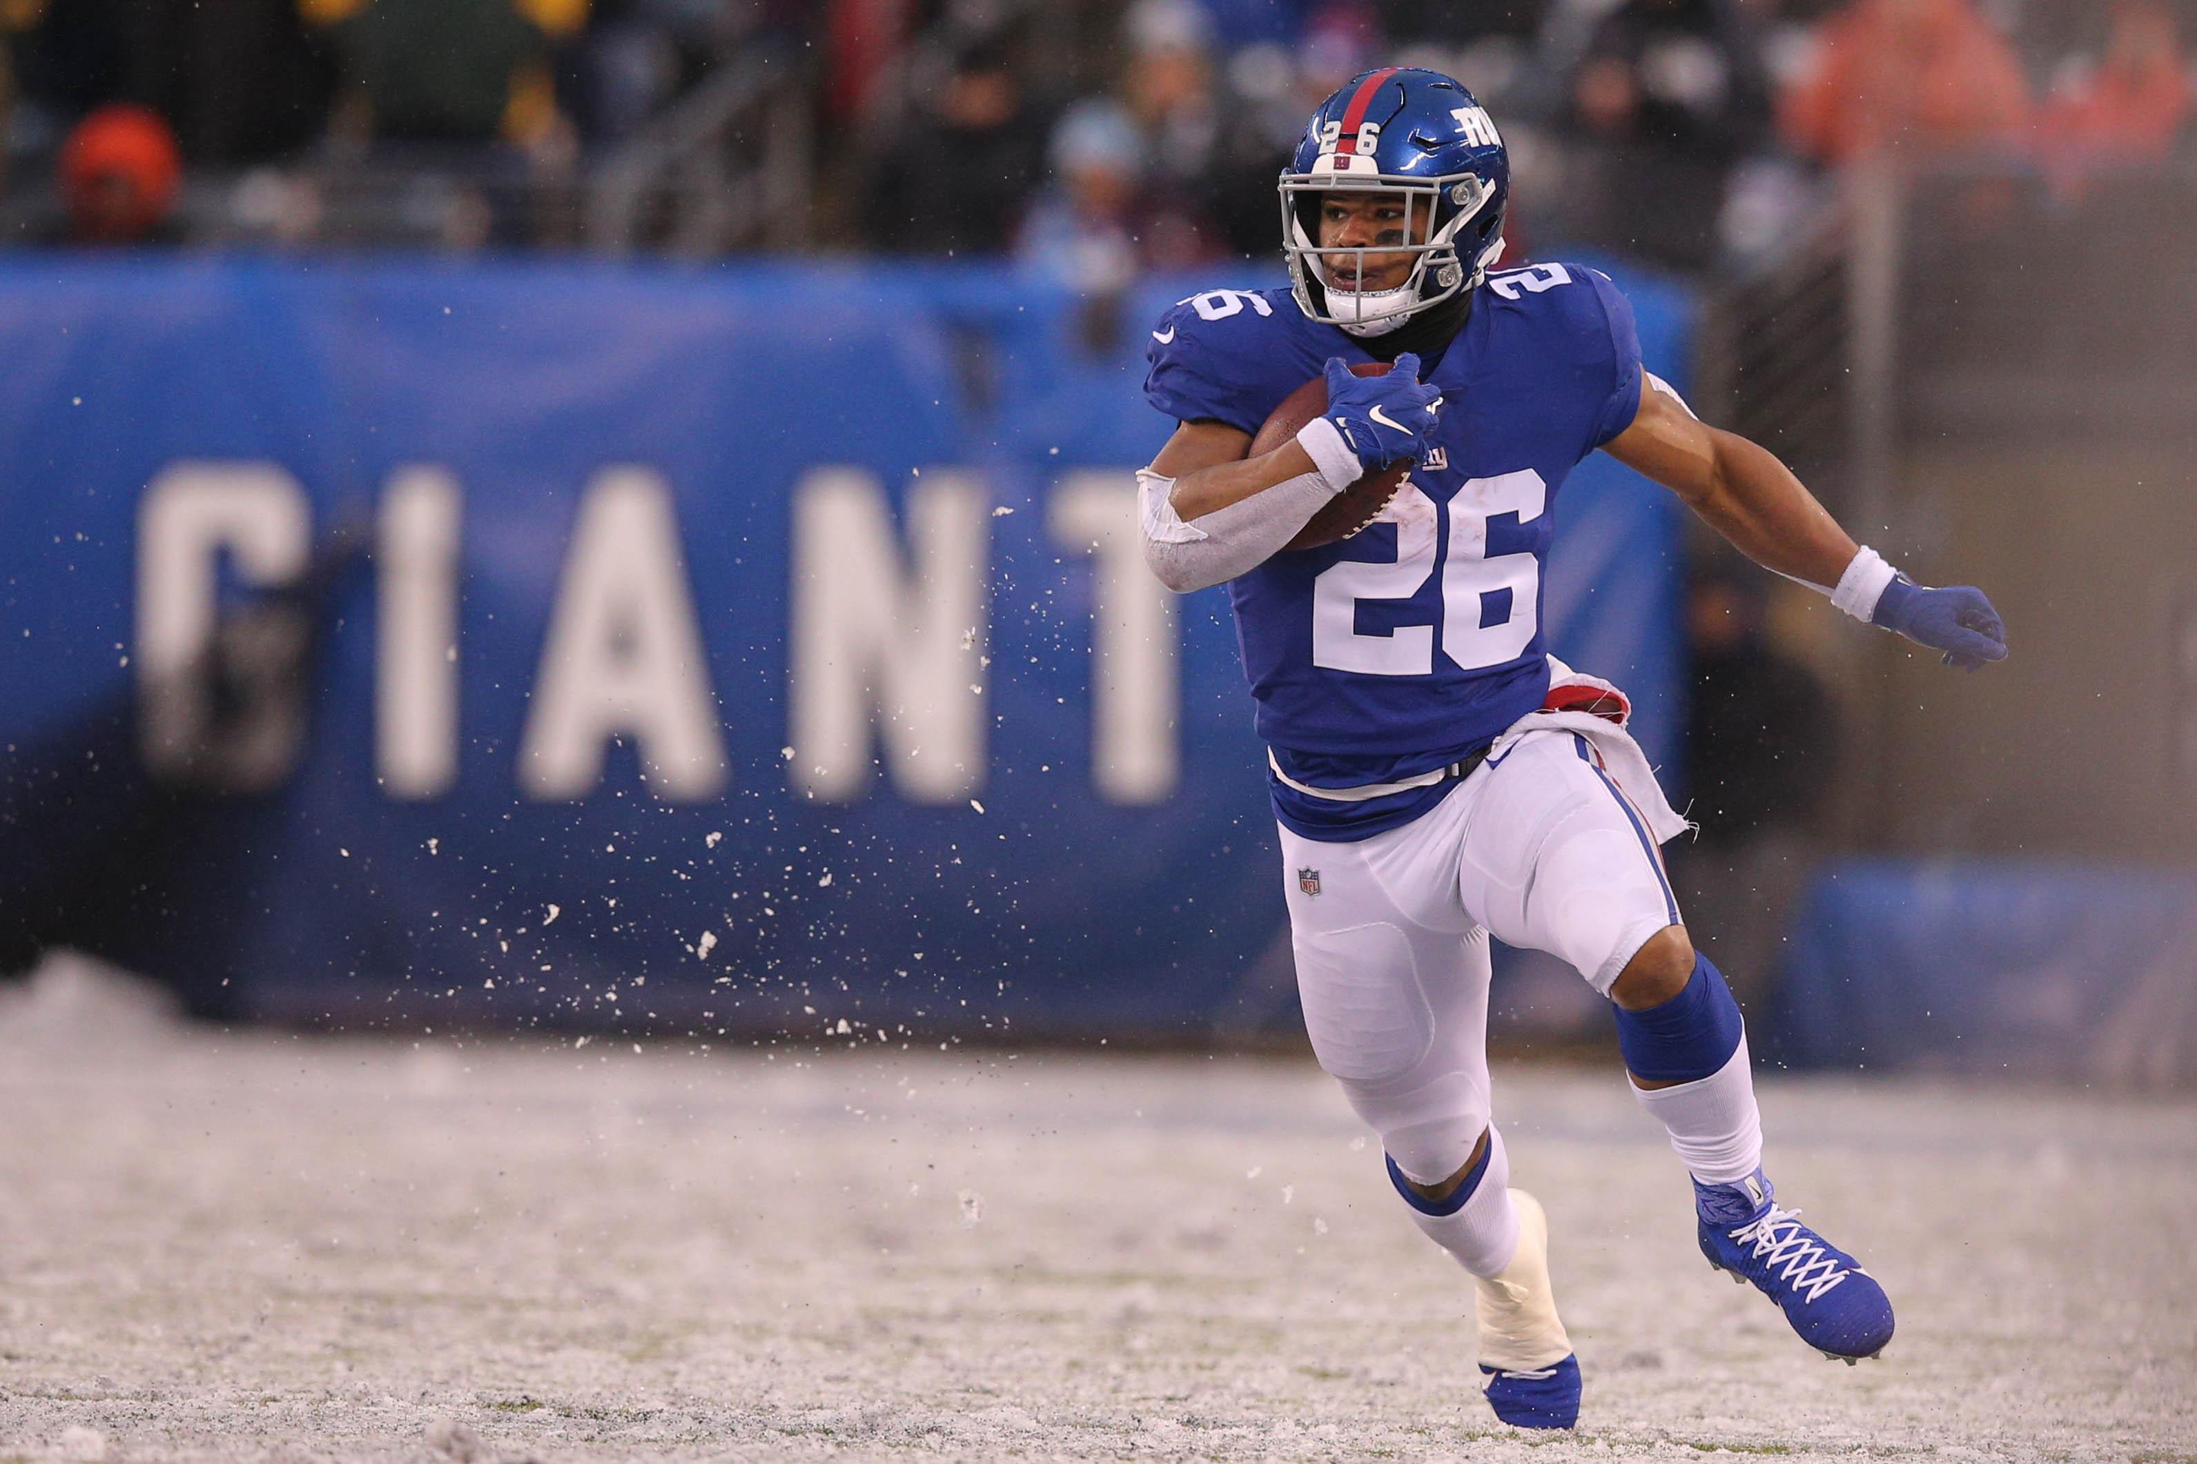
M2061 182L2092 162L2164 158L2190 112L2188 61L2164 0L2120 0L2105 57L2061 79L2041 151Z

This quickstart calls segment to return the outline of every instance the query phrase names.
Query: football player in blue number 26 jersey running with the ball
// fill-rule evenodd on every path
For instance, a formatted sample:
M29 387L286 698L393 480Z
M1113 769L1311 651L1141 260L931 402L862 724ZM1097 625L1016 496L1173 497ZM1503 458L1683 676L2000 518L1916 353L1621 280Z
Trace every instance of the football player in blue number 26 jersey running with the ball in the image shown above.
M1549 950L1610 999L1641 1106L1694 1179L1700 1249L1828 1356L1876 1356L1892 1304L1762 1170L1747 1032L1687 939L1659 845L1685 827L1624 696L1555 663L1551 503L1593 450L1676 492L1758 564L1975 669L2006 656L1982 590L1925 588L1856 547L1766 450L1641 369L1595 270L1490 272L1509 162L1472 94L1373 70L1281 173L1287 290L1213 290L1151 331L1145 395L1180 426L1140 476L1145 555L1228 582L1268 744L1305 1027L1371 1124L1413 1220L1479 1277L1496 1416L1571 1427L1580 1363L1547 1220L1490 1122L1487 939ZM1351 362L1391 362L1360 378ZM1327 408L1252 437L1325 373ZM1283 547L1362 474L1406 485L1345 542Z

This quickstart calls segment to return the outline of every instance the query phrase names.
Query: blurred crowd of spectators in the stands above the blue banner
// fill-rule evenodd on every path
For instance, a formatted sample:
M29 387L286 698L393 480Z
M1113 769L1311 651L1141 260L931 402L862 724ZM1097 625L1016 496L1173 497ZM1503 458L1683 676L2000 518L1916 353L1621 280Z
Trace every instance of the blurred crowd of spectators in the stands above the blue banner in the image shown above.
M1514 244L1707 270L1856 158L1984 154L2074 191L2175 151L2193 2L0 0L0 182L13 241L158 241L191 233L191 180L299 160L569 178L769 53L819 244L1103 285L1272 255L1303 119L1399 61L1496 112Z

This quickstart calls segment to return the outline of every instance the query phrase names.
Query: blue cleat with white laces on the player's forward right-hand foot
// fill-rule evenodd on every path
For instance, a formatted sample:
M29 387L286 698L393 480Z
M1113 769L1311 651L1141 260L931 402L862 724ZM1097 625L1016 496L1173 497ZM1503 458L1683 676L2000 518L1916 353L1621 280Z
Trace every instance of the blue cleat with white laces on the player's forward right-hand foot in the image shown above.
M1753 1282L1824 1356L1852 1367L1892 1341L1892 1299L1852 1255L1780 1209L1762 1170L1736 1185L1694 1181L1700 1253L1733 1282Z

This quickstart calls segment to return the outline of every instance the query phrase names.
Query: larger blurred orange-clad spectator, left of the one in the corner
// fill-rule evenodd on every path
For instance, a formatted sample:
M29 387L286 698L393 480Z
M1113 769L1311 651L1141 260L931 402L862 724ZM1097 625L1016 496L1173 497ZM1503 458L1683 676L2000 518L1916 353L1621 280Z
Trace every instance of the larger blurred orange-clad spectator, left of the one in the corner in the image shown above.
M1854 0L1824 22L1782 121L1834 165L2006 147L2028 123L2028 81L1971 0Z

